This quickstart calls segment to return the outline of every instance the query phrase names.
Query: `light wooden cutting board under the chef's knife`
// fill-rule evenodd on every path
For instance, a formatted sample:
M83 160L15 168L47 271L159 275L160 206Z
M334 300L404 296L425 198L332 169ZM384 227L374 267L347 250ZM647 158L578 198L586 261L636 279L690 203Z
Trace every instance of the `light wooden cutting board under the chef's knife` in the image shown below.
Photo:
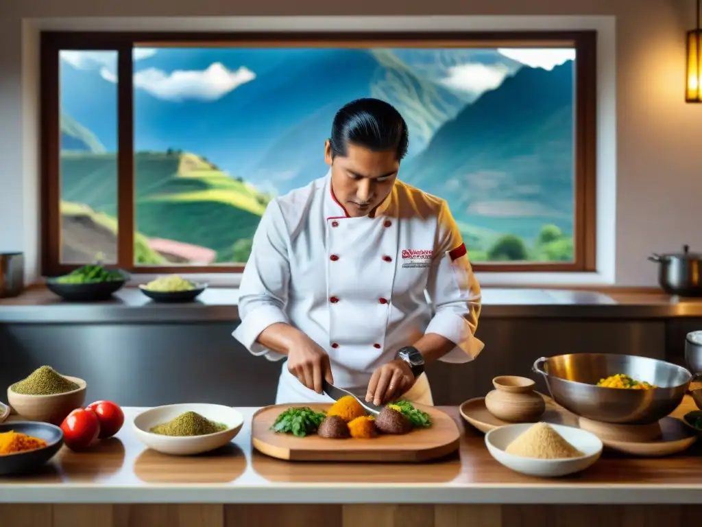
M412 463L449 455L458 450L461 439L461 433L451 417L436 408L424 405L416 405L416 408L430 415L432 426L414 429L402 436L380 434L372 439L326 439L317 434L295 437L292 434L278 434L272 431L270 427L275 419L293 406L305 405L267 406L253 415L253 448L265 455L288 461ZM331 404L307 406L317 412L331 408Z

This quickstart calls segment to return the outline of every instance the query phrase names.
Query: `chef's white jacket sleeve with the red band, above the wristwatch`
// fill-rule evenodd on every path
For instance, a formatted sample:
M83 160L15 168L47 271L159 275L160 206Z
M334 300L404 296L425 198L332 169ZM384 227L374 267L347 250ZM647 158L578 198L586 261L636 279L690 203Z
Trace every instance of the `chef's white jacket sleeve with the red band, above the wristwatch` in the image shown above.
M484 347L475 338L481 307L480 286L473 275L461 232L445 202L439 214L436 248L427 285L435 315L425 332L456 343L456 348L439 360L467 363Z

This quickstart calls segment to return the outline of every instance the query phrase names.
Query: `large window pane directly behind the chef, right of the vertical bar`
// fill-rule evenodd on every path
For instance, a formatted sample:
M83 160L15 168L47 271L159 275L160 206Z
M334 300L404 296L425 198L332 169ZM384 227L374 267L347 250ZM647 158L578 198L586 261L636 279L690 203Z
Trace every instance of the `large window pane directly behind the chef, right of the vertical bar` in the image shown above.
M448 200L473 262L573 261L574 49L138 48L136 263L244 263L274 195L324 176L360 97L410 129L399 178Z

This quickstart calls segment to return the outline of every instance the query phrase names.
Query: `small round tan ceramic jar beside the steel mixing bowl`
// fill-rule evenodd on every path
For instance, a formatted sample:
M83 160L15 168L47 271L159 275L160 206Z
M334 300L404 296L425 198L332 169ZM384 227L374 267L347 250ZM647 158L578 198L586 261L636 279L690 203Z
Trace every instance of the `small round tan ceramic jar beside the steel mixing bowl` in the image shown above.
M536 391L536 383L527 377L503 375L492 379L495 389L485 396L487 410L502 421L536 422L546 410L546 403Z

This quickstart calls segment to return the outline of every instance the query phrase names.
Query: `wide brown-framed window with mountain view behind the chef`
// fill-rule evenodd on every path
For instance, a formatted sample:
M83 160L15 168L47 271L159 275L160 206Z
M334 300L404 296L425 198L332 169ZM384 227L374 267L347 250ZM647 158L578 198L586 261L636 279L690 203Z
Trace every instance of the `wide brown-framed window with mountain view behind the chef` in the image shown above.
M42 34L44 273L239 272L331 120L388 100L399 178L476 271L595 270L595 32Z

